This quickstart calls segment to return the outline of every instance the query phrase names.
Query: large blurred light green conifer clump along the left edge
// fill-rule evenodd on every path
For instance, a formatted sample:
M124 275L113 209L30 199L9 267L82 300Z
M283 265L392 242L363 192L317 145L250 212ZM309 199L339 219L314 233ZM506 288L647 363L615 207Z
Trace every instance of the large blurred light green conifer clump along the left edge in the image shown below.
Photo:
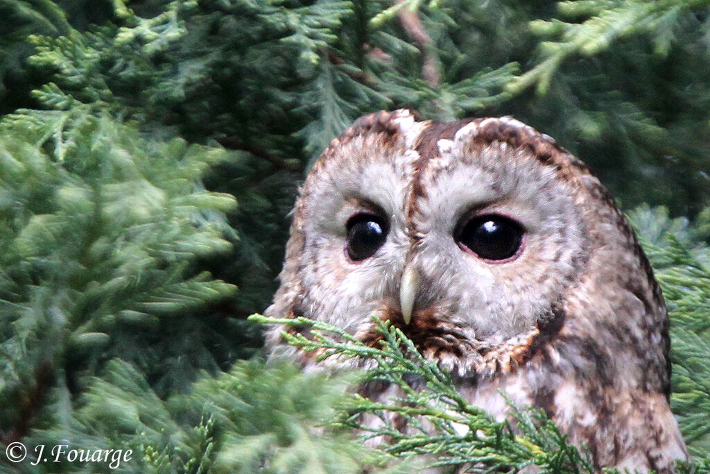
M234 286L195 262L229 249L224 212L235 201L196 177L226 153L148 142L81 108L13 114L0 134L7 436L26 434L48 389L76 396L82 375L111 357L166 390L217 367L224 335L195 311ZM189 343L175 337L182 331Z

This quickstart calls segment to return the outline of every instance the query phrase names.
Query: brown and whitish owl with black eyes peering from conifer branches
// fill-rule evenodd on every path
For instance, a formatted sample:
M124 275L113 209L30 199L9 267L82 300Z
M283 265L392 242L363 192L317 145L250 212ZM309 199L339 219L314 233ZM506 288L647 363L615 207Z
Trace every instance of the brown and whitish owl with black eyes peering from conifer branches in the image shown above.
M584 163L513 118L358 119L302 186L266 314L372 344L372 316L388 320L471 404L506 419L502 391L545 410L597 470L687 458L667 312L633 230Z

